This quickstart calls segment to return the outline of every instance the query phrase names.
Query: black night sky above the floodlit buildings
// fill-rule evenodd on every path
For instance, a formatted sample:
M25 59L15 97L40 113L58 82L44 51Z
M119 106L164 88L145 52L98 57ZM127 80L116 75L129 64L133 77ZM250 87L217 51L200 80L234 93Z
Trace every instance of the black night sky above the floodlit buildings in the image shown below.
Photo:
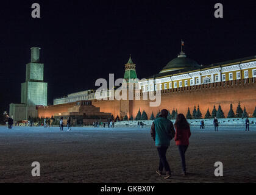
M34 2L41 18L31 17ZM214 17L221 2L224 18ZM0 108L20 103L30 48L41 48L48 102L123 77L132 55L139 78L158 73L180 52L199 64L256 54L254 1L1 1Z

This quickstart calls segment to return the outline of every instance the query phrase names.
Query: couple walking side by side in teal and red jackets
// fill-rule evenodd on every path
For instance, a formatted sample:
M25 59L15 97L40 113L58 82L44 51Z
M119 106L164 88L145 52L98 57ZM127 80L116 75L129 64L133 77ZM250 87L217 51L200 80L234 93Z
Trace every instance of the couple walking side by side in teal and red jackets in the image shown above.
M165 179L171 177L171 169L169 168L168 161L166 160L166 151L170 146L170 141L172 138L176 141L180 152L180 158L182 161L183 176L187 175L186 172L186 161L185 152L188 149L189 138L190 138L190 125L183 114L177 115L176 122L174 126L172 122L167 119L168 110L163 109L160 112L160 117L155 119L151 126L151 137L155 141L155 146L157 146L158 155L160 158L159 167L157 174L163 174L163 168L165 168L166 176ZM176 132L174 130L176 129Z

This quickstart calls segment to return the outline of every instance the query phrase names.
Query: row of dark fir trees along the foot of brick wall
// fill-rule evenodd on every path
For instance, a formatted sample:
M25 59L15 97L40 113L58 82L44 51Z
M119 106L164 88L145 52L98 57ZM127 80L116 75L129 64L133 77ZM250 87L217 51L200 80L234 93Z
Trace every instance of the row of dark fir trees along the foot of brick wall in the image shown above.
M157 113L156 116L154 116L153 112L151 113L151 117L149 118L150 120L154 120L155 118L158 118L160 115L160 111ZM169 112L168 110L168 116L167 118L168 119L176 119L178 115L178 112L177 112L177 109L172 110L172 112ZM241 108L241 104L240 102L238 103L237 107L236 107L236 112L233 111L233 105L230 104L230 110L229 110L229 113L227 114L227 118L247 118L249 115L246 111L246 108L244 107L244 109ZM253 117L256 118L256 107L254 109L254 113L252 114ZM222 111L221 109L221 105L219 105L218 107L218 110L216 110L216 107L215 105L213 105L213 110L212 110L212 114L210 113L209 111L209 108L207 109L207 112L204 116L205 119L207 118L225 118L225 115L224 115L224 112ZM187 112L187 115L186 115L186 118L187 119L201 119L203 118L202 116L202 113L200 111L200 108L199 108L199 105L197 105L197 108L196 106L194 106L194 110L191 114L190 112L190 108L188 108L188 112ZM128 116L124 116L124 121L133 121L133 116L131 116L129 119L128 119ZM137 116L135 118L136 121L139 121L139 120L148 120L148 115L147 113L143 110L142 114L140 112L140 108L138 110L138 113L137 113Z

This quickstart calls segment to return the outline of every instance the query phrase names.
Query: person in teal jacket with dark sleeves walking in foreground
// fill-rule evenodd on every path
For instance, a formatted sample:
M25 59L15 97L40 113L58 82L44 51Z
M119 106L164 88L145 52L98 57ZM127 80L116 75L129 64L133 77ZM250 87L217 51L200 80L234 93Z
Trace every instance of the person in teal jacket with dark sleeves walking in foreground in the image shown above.
M165 168L165 179L171 177L171 169L169 168L168 161L166 160L166 151L170 146L170 141L175 136L175 130L172 122L167 119L168 110L163 109L157 119L152 122L151 137L155 141L157 146L158 155L160 158L157 174L161 176L163 174L163 168Z

